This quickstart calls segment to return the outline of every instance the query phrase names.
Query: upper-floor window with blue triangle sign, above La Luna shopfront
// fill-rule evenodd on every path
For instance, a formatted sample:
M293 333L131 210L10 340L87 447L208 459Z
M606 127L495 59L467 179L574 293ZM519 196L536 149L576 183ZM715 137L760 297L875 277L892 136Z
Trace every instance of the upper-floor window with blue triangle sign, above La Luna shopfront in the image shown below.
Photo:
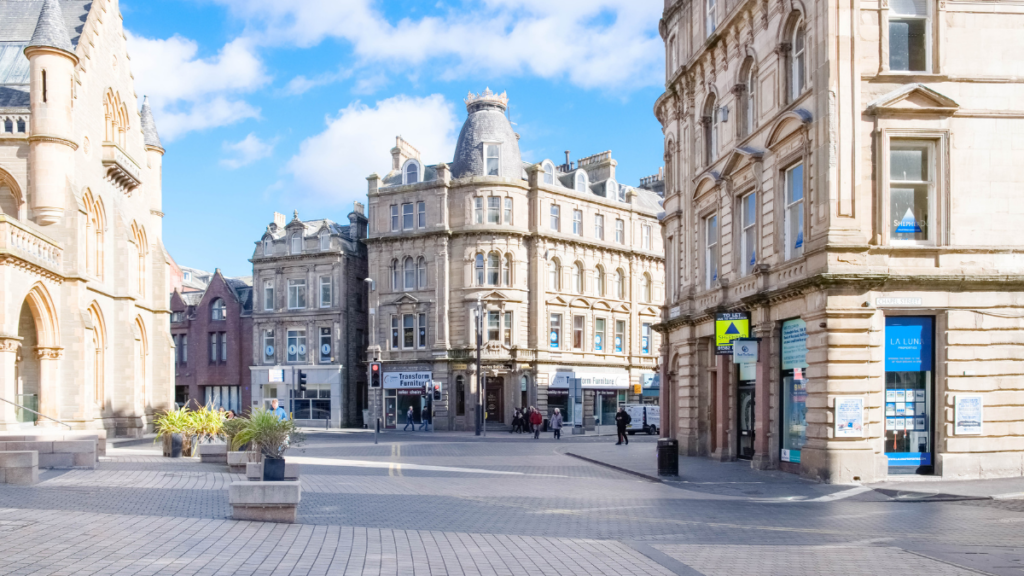
M935 145L889 141L889 241L893 245L934 242Z

